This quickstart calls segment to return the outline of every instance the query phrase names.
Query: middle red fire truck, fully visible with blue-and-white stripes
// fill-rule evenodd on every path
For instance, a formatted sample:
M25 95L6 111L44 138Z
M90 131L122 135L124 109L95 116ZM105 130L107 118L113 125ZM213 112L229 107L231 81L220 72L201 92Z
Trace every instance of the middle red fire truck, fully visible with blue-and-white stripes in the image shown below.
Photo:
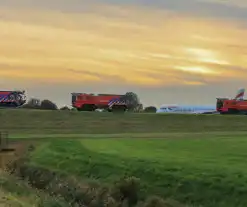
M127 105L123 100L124 95L119 94L88 94L72 93L72 106L78 111L94 111L96 109L107 109L126 111Z

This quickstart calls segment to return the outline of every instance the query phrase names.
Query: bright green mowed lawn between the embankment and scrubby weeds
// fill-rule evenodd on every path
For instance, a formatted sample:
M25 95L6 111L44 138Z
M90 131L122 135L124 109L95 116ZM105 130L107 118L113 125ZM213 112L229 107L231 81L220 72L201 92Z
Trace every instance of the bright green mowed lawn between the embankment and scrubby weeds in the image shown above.
M152 138L152 137L150 137ZM247 206L247 139L53 140L40 145L31 162L80 179L112 183L141 180L141 195L159 195L205 207Z

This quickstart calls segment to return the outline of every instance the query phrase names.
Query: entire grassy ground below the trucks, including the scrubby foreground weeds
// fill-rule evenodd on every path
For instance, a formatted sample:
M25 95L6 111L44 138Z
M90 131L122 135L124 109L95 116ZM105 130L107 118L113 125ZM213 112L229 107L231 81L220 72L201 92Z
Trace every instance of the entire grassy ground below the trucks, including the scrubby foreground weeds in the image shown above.
M13 109L0 123L6 206L247 206L247 116Z

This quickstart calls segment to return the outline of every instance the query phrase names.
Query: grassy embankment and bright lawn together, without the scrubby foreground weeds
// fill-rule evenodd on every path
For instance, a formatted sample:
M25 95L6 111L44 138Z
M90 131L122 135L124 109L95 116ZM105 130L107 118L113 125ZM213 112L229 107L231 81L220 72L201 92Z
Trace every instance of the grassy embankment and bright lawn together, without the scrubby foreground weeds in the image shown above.
M0 112L12 138L43 140L30 166L79 180L141 180L141 197L245 207L246 116ZM43 139L42 139L43 138Z

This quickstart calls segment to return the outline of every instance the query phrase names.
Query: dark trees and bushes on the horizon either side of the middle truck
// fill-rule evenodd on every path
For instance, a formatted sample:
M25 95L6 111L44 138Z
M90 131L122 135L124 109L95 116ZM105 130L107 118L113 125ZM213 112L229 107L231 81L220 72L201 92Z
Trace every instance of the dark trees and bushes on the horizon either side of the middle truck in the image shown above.
M150 112L150 113L155 113L156 112L156 107L154 106L148 106L148 107L143 107L143 104L140 102L140 99L137 94L133 92L127 92L123 97L122 97L128 106L128 111L131 112ZM25 109L40 109L40 110L76 110L74 108L69 108L68 106L63 106L59 108L56 103L54 103L51 100L44 99L40 100L37 98L31 98L26 104L22 106L22 108Z

